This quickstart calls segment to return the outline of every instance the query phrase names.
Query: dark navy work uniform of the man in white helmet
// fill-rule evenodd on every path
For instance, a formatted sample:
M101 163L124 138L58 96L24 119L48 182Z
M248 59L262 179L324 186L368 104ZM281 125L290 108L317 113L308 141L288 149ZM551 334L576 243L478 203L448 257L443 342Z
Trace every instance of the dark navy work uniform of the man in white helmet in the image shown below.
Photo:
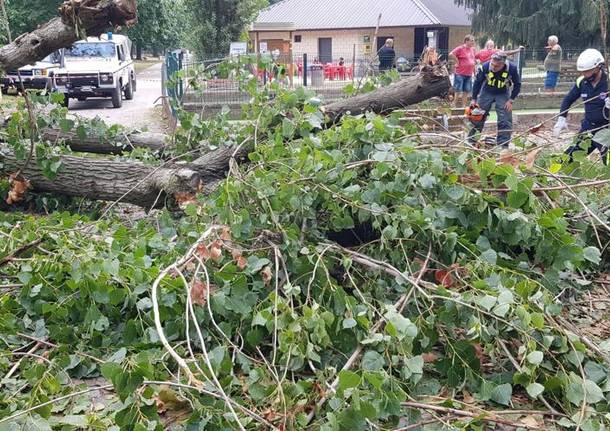
M595 136L597 132L608 126L608 118L610 118L610 112L606 109L606 98L608 97L608 75L602 70L602 77L596 86L593 86L584 76L580 76L570 92L563 98L561 102L561 116L567 117L570 106L574 104L578 99L582 99L585 102L585 118L582 120L578 137L574 145L571 145L565 153L570 156L576 151L582 151L580 144L587 137L589 132ZM591 154L593 151L599 150L602 155L604 164L608 164L608 148L598 142L591 141L591 146L587 150L587 154Z

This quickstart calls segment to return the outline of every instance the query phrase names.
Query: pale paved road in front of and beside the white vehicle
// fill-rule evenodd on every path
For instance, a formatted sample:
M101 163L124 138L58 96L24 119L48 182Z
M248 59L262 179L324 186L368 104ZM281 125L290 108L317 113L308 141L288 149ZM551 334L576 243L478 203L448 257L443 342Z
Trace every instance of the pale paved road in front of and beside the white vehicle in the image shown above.
M136 75L137 90L133 100L123 100L121 108L113 108L110 99L88 99L79 102L70 99L70 113L87 118L99 116L108 124L121 124L129 128L163 132L165 124L155 101L161 96L161 63L140 71Z

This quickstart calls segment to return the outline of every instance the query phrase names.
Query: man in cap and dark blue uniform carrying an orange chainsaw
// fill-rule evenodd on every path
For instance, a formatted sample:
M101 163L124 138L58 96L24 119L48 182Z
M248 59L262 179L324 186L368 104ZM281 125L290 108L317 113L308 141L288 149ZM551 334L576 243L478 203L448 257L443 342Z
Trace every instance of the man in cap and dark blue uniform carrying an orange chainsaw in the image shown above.
M496 144L508 148L513 130L513 102L521 91L521 78L517 66L507 60L505 52L496 52L477 72L472 88L472 99L466 115L472 122L468 142L475 144L485 122L496 105L498 135ZM512 87L512 89L511 89ZM473 113L478 115L472 115Z

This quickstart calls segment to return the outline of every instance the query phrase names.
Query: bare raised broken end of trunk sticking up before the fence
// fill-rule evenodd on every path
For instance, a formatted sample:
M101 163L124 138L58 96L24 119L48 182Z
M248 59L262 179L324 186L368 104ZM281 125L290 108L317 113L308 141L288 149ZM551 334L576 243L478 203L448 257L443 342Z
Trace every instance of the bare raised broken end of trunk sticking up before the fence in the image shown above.
M387 87L330 103L323 107L323 111L330 122L336 123L348 113L358 115L370 111L382 114L432 97L445 96L450 88L449 73L445 66L425 67L417 75Z

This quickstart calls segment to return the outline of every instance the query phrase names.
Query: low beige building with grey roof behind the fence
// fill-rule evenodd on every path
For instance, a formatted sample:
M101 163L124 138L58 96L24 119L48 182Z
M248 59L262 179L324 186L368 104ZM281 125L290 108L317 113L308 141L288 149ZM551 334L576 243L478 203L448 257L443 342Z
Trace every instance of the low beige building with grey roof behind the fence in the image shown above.
M470 33L470 15L453 0L283 0L259 13L250 42L254 52L306 53L322 63L365 58L388 38L398 56L418 58L426 45L446 55Z

